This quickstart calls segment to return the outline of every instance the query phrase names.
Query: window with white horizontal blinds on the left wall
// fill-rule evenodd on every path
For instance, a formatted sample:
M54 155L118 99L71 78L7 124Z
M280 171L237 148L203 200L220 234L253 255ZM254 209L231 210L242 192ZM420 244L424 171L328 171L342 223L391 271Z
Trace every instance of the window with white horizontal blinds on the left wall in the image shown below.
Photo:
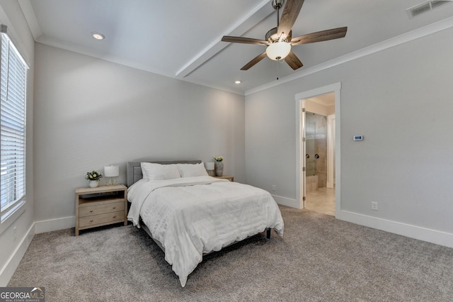
M25 91L28 66L1 25L0 223L25 203Z

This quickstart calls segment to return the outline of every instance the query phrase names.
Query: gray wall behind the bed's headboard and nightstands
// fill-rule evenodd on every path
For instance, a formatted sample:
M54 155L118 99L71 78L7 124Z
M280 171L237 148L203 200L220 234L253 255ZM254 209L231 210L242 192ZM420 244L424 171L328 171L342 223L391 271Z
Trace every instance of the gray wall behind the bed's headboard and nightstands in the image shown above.
M39 43L35 61L38 232L73 226L74 190L108 164L125 183L130 160L223 155L224 174L245 180L244 96Z

